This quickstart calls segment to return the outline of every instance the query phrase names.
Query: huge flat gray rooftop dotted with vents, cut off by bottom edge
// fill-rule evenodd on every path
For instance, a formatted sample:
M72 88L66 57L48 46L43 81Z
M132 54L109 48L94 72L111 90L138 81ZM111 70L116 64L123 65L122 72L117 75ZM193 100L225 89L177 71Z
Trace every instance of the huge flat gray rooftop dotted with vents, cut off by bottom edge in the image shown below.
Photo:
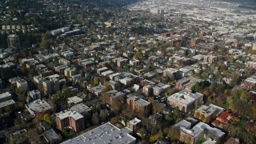
M110 122L98 126L93 130L87 131L76 138L62 142L62 144L76 143L76 144L131 144L136 143L136 138L127 133L126 130L120 130L118 127L112 125Z

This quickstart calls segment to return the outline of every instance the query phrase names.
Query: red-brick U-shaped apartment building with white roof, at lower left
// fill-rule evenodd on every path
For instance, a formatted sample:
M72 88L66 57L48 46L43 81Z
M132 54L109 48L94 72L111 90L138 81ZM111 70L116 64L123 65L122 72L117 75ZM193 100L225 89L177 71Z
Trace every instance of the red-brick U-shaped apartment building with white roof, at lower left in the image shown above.
M78 132L85 129L84 117L76 111L64 111L56 114L56 124L59 130L69 127Z

